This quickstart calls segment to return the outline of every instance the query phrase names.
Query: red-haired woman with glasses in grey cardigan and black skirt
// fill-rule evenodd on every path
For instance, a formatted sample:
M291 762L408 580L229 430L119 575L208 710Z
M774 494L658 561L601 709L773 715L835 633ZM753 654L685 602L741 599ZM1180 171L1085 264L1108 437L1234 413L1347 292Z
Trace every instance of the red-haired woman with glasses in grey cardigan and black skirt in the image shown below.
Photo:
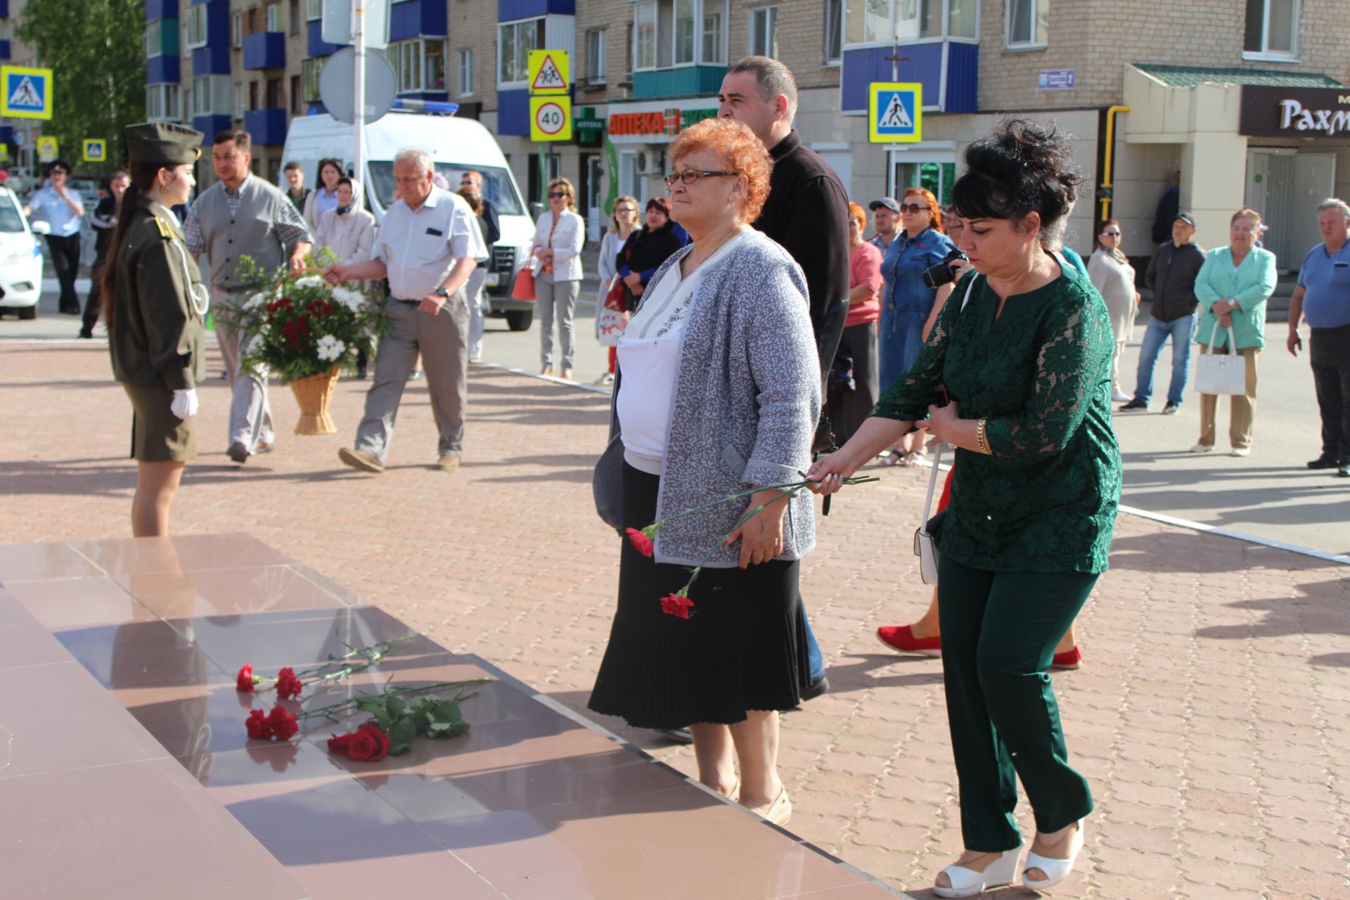
M802 479L821 409L802 271L749 227L768 196L764 144L711 119L670 158L671 217L691 243L657 269L618 345L612 451L634 529ZM770 488L674 518L651 548L625 542L590 699L636 727L693 722L699 780L776 823L792 810L778 727L809 683L798 572L814 542L811 497ZM672 602L694 567L690 603Z

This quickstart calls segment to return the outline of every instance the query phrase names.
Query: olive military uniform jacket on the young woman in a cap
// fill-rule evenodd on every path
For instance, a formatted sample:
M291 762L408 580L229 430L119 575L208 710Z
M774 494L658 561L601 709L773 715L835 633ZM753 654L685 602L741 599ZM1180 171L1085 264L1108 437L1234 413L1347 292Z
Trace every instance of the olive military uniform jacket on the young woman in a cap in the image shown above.
M119 382L196 387L204 375L201 336L207 289L173 213L136 198L116 260L108 321L112 374Z

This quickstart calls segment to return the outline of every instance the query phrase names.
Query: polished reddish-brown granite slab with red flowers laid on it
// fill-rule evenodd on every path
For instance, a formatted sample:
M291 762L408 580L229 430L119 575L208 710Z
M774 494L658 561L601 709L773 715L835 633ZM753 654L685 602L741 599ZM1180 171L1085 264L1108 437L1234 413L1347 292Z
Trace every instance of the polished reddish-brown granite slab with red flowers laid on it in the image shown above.
M0 545L0 584L5 896L896 896L246 534ZM240 665L393 638L286 706L490 679L468 734L378 762L327 752L364 715L247 738L275 698Z

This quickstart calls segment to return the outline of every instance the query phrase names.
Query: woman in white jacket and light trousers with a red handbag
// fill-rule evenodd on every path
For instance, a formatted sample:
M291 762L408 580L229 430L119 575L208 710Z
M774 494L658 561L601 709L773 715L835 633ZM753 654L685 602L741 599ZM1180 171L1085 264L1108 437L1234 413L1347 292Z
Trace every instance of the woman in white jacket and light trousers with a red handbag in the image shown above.
M582 244L586 243L586 223L576 215L576 192L566 178L548 182L548 209L535 227L533 255L540 262L535 278L535 306L539 309L541 375L554 374L554 322L562 344L563 381L572 378L572 316L576 313L576 294L582 287Z

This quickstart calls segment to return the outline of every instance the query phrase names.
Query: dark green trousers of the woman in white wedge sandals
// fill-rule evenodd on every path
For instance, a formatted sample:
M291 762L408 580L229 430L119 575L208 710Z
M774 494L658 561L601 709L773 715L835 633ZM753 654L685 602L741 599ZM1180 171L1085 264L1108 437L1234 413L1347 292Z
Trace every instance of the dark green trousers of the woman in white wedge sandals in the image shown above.
M942 680L968 850L1002 853L1022 842L1017 779L1040 831L1092 811L1087 779L1068 762L1046 668L1096 580L938 560Z

